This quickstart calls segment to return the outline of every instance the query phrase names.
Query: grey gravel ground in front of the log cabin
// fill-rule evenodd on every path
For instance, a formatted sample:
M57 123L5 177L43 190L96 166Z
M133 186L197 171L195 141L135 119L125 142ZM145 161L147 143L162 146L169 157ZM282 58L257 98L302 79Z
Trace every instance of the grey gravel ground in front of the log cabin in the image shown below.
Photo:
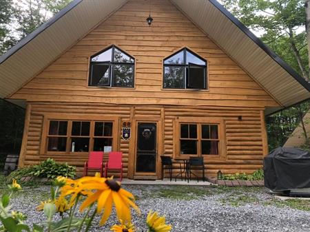
M146 232L149 209L166 215L172 231L310 231L310 211L278 207L265 188L123 187L137 196L142 211L141 217L133 212L137 232ZM41 223L45 218L35 207L48 192L49 187L25 189L12 199L13 209L27 213L28 224ZM95 222L91 231L110 231L114 222L113 215L103 227Z

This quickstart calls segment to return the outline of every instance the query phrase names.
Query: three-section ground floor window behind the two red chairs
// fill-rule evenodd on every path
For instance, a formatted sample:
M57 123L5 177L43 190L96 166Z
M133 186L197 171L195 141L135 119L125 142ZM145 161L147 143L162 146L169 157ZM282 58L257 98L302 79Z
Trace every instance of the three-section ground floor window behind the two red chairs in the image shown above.
M49 120L48 152L112 151L113 122L94 120Z

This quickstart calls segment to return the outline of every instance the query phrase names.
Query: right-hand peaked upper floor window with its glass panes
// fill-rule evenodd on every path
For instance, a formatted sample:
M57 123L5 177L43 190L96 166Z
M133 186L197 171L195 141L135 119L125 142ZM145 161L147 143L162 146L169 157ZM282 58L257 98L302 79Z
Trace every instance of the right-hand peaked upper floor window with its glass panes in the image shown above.
M165 89L207 89L207 61L184 48L163 62Z

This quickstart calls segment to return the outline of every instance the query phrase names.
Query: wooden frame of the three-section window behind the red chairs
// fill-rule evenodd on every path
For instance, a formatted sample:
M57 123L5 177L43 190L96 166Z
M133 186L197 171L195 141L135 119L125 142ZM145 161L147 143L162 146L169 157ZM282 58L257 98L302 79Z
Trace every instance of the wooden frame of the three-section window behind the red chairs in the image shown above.
M68 128L67 128L67 145L65 151L48 151L48 131L50 127L51 120L59 120L59 121L68 121ZM73 121L90 121L90 148L89 151L85 152L71 152L71 140L70 136L72 130L72 122ZM116 151L118 149L118 117L116 116L99 116L99 115L87 115L87 116L80 116L76 114L45 114L43 120L43 130L41 136L41 146L39 151L39 156L46 156L46 155L68 155L72 157L72 155L77 156L88 156L89 152L92 151L94 147L94 122L112 122L113 129L112 129L112 151ZM76 137L76 136L73 136ZM85 137L85 136L84 136ZM87 137L87 136L86 136Z

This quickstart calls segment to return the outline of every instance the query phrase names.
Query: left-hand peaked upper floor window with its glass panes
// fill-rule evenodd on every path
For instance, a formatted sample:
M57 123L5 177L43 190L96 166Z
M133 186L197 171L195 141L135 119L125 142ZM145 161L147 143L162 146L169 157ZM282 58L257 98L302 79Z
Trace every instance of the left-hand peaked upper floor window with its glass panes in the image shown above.
M115 45L91 56L88 85L134 87L134 58Z

